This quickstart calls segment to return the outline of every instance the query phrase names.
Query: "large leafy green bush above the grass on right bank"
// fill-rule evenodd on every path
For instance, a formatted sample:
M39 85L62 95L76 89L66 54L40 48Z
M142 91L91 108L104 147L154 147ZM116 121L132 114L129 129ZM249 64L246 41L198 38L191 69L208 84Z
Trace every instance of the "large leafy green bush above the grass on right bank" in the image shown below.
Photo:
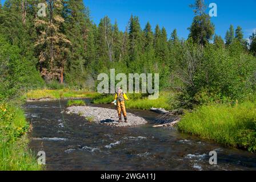
M242 100L253 92L255 58L245 53L238 42L229 49L214 45L201 49L188 44L182 60L177 73L184 88L179 95L181 106Z

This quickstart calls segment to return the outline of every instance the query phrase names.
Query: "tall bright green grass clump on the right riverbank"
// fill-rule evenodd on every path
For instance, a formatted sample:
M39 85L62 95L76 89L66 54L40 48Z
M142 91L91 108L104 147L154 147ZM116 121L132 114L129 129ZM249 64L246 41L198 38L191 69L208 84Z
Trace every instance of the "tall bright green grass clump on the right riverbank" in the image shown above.
M256 151L256 102L199 107L185 114L178 129L225 146Z

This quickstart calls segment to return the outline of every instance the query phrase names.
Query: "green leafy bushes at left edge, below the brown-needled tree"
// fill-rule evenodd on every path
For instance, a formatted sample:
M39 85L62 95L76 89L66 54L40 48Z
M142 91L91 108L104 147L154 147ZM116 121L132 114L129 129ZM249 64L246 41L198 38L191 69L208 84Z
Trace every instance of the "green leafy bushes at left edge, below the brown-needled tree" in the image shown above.
M16 99L26 88L39 88L43 80L21 49L0 36L0 100Z

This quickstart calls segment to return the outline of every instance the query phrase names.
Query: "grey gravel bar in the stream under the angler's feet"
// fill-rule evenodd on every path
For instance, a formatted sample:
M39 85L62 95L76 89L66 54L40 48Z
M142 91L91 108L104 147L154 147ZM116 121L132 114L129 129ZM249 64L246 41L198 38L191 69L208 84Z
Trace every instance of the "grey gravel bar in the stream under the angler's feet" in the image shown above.
M85 117L90 122L109 125L113 127L129 127L145 125L147 121L137 115L127 113L128 122L118 122L117 110L91 106L71 106L67 107L67 114L78 114ZM122 116L122 121L124 121Z

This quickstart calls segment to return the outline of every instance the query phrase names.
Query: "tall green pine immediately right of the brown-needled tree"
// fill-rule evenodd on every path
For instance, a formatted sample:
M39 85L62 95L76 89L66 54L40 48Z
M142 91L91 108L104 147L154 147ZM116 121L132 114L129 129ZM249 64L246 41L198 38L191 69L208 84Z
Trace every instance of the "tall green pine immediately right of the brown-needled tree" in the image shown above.
M91 26L87 23L90 22L88 11L82 0L65 1L63 7L63 33L73 45L67 57L66 70L66 80L70 85L85 85L87 39Z

